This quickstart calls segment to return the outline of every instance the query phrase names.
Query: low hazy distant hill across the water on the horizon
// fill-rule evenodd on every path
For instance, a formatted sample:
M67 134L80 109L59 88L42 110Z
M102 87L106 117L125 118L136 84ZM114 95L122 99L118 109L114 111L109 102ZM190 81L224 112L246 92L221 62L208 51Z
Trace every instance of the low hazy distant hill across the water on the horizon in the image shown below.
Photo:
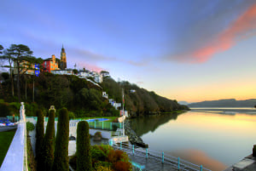
M253 107L256 105L256 99L251 100L212 100L190 103L189 107Z

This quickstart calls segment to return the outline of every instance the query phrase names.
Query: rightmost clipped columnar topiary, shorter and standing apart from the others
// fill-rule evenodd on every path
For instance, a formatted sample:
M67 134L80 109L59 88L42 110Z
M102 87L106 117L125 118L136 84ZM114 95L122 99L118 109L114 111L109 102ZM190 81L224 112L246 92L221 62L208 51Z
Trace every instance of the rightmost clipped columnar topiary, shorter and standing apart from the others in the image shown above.
M77 128L77 171L91 171L89 124L79 122Z

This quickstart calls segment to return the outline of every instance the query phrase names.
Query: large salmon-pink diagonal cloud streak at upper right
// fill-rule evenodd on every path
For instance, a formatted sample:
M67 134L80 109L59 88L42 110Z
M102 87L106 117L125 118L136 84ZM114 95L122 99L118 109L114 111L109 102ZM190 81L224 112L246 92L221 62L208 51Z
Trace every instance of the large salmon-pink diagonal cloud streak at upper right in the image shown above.
M178 55L181 62L202 63L209 60L214 54L232 48L238 41L255 36L256 4L241 14L230 26L207 43L206 46L195 49L187 54Z

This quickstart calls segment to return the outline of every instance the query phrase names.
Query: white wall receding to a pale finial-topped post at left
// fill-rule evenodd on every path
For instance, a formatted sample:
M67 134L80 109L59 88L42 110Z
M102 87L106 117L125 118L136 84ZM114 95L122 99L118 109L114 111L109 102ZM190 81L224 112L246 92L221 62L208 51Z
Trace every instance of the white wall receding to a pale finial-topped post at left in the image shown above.
M20 106L20 121L14 139L3 160L0 171L27 171L26 117L23 102Z

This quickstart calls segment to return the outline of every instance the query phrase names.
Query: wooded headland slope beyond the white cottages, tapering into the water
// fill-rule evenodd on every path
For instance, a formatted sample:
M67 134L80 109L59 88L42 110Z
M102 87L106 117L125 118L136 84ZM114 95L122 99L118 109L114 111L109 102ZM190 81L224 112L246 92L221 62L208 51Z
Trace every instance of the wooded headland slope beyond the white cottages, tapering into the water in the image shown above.
M109 99L117 102L122 101L122 89L124 89L125 110L130 111L134 117L189 110L186 105L179 105L177 100L166 99L153 91L148 92L148 90L127 81L115 82L113 78L107 77L102 83L102 88L107 91Z

